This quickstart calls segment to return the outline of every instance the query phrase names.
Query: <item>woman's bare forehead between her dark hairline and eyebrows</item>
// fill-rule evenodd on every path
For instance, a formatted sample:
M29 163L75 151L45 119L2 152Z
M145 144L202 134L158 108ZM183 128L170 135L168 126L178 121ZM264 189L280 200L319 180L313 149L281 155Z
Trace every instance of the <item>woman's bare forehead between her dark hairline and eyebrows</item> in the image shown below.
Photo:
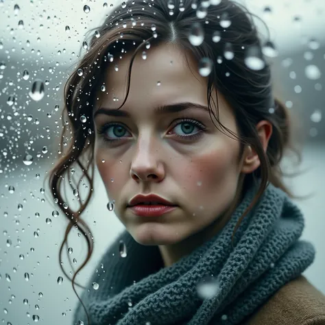
M206 80L197 72L197 62L191 54L185 53L177 45L169 44L145 49L145 53L145 59L143 50L134 59L125 106L130 103L132 106L149 104L148 101L159 105L166 101L166 97L186 96L187 100L189 97L206 97ZM127 53L122 59L117 57L110 63L104 77L106 91L101 92L99 85L96 108L121 106L127 93L131 58L132 53Z

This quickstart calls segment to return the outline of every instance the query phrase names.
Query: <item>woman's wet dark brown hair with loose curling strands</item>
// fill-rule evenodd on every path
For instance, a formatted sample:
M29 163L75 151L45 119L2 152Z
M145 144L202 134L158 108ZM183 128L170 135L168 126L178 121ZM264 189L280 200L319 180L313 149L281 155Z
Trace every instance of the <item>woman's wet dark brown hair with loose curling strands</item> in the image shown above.
M213 69L207 77L208 106L210 108L210 102L213 101L212 94L213 87L215 87L219 93L224 95L234 110L239 137L221 123L217 123L215 126L220 128L221 132L226 130L240 141L241 154L244 146L250 145L261 160L261 166L254 173L241 178L242 186L238 186L238 193L243 193L245 188L256 180L258 180L259 189L252 204L239 220L234 232L243 217L263 195L269 182L292 196L282 182L283 173L279 165L285 149L293 149L291 145L291 122L288 110L278 100L274 99L269 63L263 56L263 44L258 36L253 16L243 6L233 1L222 0L217 5L214 5L213 2L219 1L174 0L173 8L173 5L167 0L128 1L122 3L110 16L107 16L104 23L96 29L88 44L86 40L84 41L84 47L87 47L86 54L64 86L63 130L59 152L61 157L49 173L51 194L69 220L60 248L59 262L64 244L67 247L67 236L73 226L81 230L88 245L86 261L77 269L72 279L60 263L62 272L72 280L74 291L75 276L86 265L93 252L91 230L86 222L80 218L80 215L93 194L95 134L92 111L95 104L95 93L103 84L107 67L110 64L115 64L114 58L123 56L123 53L133 54L128 73L129 91L134 58L139 51L145 50L147 42L152 46L163 42L177 43L181 49L184 49L184 53L190 51L197 62L200 62L202 58L212 60ZM225 19L231 22L228 27L222 23L222 20ZM204 41L198 46L192 45L189 41L189 35L193 33L195 28L199 33L201 29L204 34ZM215 37L218 35L215 33L220 36L217 42ZM234 56L228 60L225 58L224 52L230 47ZM265 64L263 69L256 71L246 64L245 58L251 49L259 53L258 55ZM127 97L128 95L121 106ZM217 112L219 113L219 110ZM215 115L212 110L210 113L218 121L218 114ZM86 117L86 121L81 121L81 117L83 119ZM261 120L267 120L273 125L273 132L266 153L256 132L256 123ZM296 149L293 149L293 152L298 154L300 161L299 152ZM86 178L89 184L88 195L85 200L79 201L80 208L77 210L72 210L69 207L62 193L62 181L65 176L69 180L71 189L79 190L80 180L76 182L77 186L74 186L71 178L69 169L73 167L80 167L81 178ZM237 198L239 196L237 195ZM234 202L229 214L236 208L236 204L237 202ZM85 289L81 285L78 286ZM76 291L75 294L77 295ZM79 298L78 295L77 297ZM82 301L80 300L80 302ZM82 306L84 306L83 303Z

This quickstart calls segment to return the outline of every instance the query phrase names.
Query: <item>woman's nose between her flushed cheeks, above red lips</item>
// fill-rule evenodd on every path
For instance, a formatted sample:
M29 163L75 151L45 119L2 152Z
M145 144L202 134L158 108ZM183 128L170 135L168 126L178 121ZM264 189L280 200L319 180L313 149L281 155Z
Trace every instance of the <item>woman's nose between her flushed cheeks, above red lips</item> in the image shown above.
M139 136L134 153L130 176L136 182L161 182L165 178L163 162L159 159L158 145L154 143L152 136Z

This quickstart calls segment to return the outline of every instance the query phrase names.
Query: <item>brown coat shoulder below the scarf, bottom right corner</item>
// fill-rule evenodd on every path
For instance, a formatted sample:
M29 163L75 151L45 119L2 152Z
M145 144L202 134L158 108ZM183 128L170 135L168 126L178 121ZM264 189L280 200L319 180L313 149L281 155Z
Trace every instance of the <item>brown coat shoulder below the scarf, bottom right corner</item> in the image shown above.
M299 276L279 289L243 325L325 325L325 296Z

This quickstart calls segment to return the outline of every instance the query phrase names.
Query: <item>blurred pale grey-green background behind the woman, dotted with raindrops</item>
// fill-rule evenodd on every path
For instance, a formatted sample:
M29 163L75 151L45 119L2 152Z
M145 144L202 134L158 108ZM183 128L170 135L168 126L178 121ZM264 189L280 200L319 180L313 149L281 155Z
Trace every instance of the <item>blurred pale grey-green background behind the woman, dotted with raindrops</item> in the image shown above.
M58 154L62 90L78 60L84 33L100 25L117 2L106 6L104 1L0 1L0 321L5 324L34 324L38 318L41 324L72 324L77 298L58 259L67 221L62 213L52 217L56 205L49 200L48 187L42 189L43 178ZM297 136L304 139L298 169L303 173L287 184L297 195L311 195L296 201L305 214L302 237L317 250L304 275L325 293L325 1L242 2L269 26L278 51L269 59L274 88L298 121ZM84 5L91 8L88 14ZM29 96L35 80L45 82L40 101ZM27 154L33 157L30 165L24 163ZM293 170L286 160L284 168ZM123 229L106 208L108 197L97 173L95 184L95 197L84 213L95 250L77 278L82 285ZM75 269L86 256L86 242L77 233L73 229L69 235ZM62 263L72 272L65 253Z

